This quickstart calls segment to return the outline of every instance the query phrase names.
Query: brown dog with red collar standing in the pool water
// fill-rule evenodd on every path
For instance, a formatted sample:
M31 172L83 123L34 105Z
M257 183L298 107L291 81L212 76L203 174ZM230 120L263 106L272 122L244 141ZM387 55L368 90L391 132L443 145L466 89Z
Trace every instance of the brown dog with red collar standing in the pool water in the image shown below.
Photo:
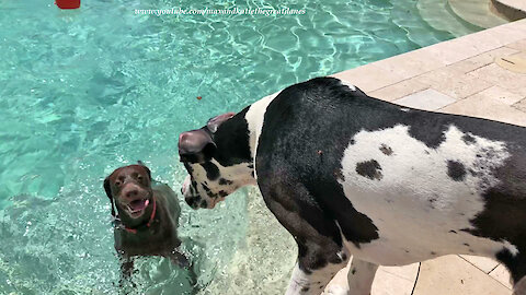
M152 180L150 169L141 162L115 169L104 179L104 190L116 221L115 249L122 258L123 279L133 273L133 257L162 256L188 269L191 283L195 284L195 272L179 250L181 239L176 228L181 208L173 190Z

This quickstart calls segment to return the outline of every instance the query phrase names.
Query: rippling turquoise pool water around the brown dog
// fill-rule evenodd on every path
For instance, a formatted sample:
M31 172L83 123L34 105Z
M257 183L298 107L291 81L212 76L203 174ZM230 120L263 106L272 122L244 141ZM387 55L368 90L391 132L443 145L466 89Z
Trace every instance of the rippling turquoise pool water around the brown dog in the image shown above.
M172 7L306 14L134 13ZM0 0L0 294L116 294L102 189L114 168L141 160L179 191L181 131L291 83L453 37L409 0L92 0L75 11ZM194 240L185 247L203 284L226 275L247 238L243 194L214 211L181 200L181 236ZM140 259L137 269L132 294L188 290L163 259Z

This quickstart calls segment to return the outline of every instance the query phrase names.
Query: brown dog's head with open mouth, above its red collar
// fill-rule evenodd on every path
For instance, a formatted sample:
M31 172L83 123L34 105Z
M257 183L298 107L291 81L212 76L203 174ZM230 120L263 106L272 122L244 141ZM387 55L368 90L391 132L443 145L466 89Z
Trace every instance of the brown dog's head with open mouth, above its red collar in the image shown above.
M141 217L153 201L151 173L144 165L129 165L115 169L104 179L104 190L112 202L112 215L115 216L115 203L121 219Z

